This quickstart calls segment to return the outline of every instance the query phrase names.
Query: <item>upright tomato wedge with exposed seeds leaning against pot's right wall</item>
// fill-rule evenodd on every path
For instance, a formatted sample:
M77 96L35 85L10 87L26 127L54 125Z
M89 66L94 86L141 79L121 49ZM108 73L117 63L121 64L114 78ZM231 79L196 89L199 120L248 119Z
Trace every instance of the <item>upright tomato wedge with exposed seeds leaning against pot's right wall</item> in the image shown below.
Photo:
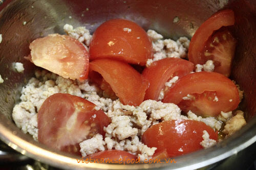
M236 40L228 30L223 31L221 28L232 25L234 13L229 9L215 13L202 23L191 38L189 61L196 65L213 60L214 71L229 77Z

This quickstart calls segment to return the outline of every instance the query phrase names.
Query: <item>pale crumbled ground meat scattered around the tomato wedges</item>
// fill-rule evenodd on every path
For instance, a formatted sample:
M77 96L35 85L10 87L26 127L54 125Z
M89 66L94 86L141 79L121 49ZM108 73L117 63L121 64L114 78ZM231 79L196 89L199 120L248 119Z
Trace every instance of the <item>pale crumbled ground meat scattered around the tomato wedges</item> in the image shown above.
M65 25L65 32L80 42L90 45L91 37L89 30L85 27L73 29L71 25ZM131 32L125 28L126 32ZM181 37L177 41L163 39L163 36L153 30L148 30L147 35L152 39L154 48L154 58L147 61L147 66L153 61L166 57L185 58L189 40ZM139 37L138 37L139 38ZM17 64L17 70L21 65ZM15 64L15 66L16 66ZM202 70L212 71L214 64L208 60L203 66L198 66ZM21 68L21 67L20 67ZM165 87L172 86L179 77L174 77L165 83ZM0 76L1 82L1 76ZM242 100L243 91L240 90ZM164 89L163 89L164 90ZM164 92L160 93L159 100L163 99ZM22 88L21 102L13 108L12 117L16 126L24 133L29 133L35 140L38 140L37 129L37 111L42 103L52 94L69 93L87 99L96 105L96 110L102 109L106 115L111 118L111 124L104 127L105 137L96 134L94 137L80 142L80 152L82 156L87 156L99 151L105 150L122 150L138 155L141 160L151 158L157 148L150 148L143 144L141 135L152 125L167 120L192 119L204 122L214 130L220 130L222 123L226 122L223 130L227 135L233 134L246 124L242 111L237 111L235 116L232 112L221 112L218 119L214 117L201 117L189 111L187 115L181 114L181 109L173 103L162 103L161 101L146 100L138 107L123 105L119 99L111 100L102 96L102 91L86 80L83 83L62 78L46 70L36 70L35 78L31 78L28 84ZM191 100L194 96L185 96L183 100ZM215 99L218 102L218 98ZM200 143L204 148L211 147L217 141L209 139L207 131L203 131L203 141ZM179 150L183 152L182 150Z

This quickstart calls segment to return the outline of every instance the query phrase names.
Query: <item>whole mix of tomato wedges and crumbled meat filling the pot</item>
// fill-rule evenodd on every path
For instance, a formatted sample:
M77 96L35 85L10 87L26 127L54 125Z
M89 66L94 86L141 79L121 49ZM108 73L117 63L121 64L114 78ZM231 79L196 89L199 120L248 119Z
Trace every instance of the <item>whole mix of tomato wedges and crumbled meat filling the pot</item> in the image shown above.
M232 18L230 10L212 17L225 21L226 13ZM208 28L208 22L202 26ZM85 27L65 25L67 35L31 43L28 58L52 72L36 70L22 89L13 120L35 140L84 157L133 154L145 160L211 147L221 140L219 132L228 136L246 124L243 112L236 110L243 91L225 77L235 41L226 31L212 34L232 23L223 22L203 40L211 57L195 45L202 40L193 37L191 47L186 37L163 39L123 19L103 23L93 36ZM220 57L219 47L228 53L221 51ZM188 48L192 55L187 61ZM217 71L223 75L212 72L217 68L225 70Z

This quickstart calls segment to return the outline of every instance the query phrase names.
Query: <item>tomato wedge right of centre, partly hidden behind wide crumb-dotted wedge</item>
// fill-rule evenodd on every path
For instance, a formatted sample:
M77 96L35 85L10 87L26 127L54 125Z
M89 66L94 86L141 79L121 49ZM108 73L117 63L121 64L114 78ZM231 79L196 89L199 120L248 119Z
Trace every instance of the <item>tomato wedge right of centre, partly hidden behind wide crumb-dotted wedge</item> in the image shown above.
M165 58L153 62L146 67L142 76L150 82L150 87L146 90L144 100L158 100L160 91L165 87L165 83L175 77L179 78L193 71L194 64L180 58Z

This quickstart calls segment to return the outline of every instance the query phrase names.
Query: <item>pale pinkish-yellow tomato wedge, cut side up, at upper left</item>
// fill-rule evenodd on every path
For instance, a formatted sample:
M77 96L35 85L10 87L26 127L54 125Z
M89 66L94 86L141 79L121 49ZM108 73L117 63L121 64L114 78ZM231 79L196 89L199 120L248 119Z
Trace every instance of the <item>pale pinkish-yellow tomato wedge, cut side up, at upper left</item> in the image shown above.
M37 38L30 43L29 59L63 78L80 81L88 78L89 53L76 39L59 34Z

